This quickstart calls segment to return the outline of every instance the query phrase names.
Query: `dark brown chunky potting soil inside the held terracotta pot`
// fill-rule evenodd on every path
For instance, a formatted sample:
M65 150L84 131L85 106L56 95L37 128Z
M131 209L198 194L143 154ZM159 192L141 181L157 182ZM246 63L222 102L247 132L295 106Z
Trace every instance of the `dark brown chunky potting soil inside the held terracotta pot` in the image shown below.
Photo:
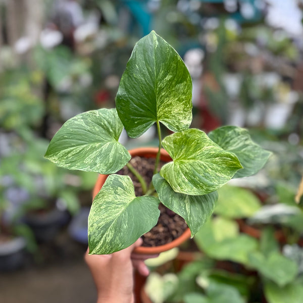
M134 157L130 160L131 165L144 177L147 184L153 178L155 159ZM162 167L165 162L160 163ZM132 179L135 187L136 196L142 195L141 184L138 179L128 170L127 167L121 169L117 174L128 175ZM160 217L158 223L150 231L142 236L142 246L160 246L178 238L187 228L184 219L166 208L163 204L159 205Z

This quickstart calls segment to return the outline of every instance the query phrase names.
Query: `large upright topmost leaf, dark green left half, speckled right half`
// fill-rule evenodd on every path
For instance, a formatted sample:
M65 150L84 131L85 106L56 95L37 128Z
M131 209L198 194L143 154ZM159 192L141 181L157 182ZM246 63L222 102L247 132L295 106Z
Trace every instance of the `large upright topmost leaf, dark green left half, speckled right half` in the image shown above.
M160 121L172 131L191 123L192 84L175 49L151 31L140 39L122 75L116 108L132 138Z

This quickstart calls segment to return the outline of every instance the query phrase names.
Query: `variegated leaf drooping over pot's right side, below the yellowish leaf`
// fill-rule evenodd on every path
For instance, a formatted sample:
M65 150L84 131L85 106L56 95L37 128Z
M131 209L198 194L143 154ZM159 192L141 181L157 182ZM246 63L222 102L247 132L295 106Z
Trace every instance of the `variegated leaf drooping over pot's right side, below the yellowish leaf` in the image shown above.
M214 211L218 199L216 191L205 195L178 193L159 174L154 175L153 184L162 204L186 221L192 237Z

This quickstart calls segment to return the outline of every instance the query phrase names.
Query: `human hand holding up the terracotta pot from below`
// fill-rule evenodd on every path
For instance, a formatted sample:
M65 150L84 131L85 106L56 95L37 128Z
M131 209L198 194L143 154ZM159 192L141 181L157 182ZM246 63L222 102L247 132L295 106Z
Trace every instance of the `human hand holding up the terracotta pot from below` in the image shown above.
M133 254L133 250L142 244L139 238L135 243L111 255L85 254L85 262L92 274L97 288L97 303L132 303L133 268L141 275L147 276L149 271L144 260L157 257Z

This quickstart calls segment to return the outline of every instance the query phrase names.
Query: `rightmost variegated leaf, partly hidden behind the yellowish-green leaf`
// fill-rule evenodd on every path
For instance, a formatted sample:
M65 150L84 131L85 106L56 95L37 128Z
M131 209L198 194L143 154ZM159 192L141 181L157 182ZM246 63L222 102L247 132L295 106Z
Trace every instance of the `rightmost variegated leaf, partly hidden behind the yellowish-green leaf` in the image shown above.
M271 152L251 140L249 132L237 126L223 126L209 133L209 137L224 150L234 153L243 166L234 178L256 174L267 162Z

